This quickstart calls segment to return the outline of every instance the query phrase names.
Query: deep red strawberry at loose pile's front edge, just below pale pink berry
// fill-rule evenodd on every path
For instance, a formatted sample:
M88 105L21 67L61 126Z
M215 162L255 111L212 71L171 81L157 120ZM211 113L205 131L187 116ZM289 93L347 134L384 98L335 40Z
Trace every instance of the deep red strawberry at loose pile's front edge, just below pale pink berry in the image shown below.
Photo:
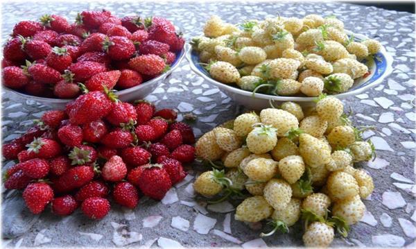
M128 208L135 208L139 203L137 189L130 182L119 182L114 186L113 198L116 203Z

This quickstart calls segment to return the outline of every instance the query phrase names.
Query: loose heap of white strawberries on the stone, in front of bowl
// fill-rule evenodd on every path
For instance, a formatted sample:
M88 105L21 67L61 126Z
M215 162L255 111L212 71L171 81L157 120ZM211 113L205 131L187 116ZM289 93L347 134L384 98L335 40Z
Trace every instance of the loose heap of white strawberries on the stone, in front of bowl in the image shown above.
M320 96L314 108L282 103L241 114L200 137L196 155L214 165L193 187L209 202L245 198L236 207L235 219L272 225L288 232L304 222L304 244L327 247L334 227L347 236L349 225L363 217L374 184L354 162L371 160L374 146L343 113L343 103ZM247 193L247 192L248 193ZM216 200L215 200L216 199Z

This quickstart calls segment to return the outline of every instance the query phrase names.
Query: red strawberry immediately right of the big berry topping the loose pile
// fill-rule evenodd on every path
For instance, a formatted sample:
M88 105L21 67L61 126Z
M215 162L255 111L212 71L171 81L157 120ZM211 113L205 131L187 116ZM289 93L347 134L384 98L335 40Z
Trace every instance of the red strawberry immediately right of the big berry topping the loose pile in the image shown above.
M130 103L113 103L112 110L105 119L113 126L121 126L121 123L133 123L137 119L136 109Z

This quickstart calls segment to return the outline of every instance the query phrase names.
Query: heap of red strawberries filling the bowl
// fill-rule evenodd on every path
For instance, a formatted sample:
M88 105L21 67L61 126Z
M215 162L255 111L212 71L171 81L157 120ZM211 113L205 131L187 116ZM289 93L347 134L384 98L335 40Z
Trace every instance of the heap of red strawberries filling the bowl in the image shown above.
M162 74L184 46L162 17L115 17L83 11L13 28L3 49L3 84L34 96L75 98L83 90L126 89Z

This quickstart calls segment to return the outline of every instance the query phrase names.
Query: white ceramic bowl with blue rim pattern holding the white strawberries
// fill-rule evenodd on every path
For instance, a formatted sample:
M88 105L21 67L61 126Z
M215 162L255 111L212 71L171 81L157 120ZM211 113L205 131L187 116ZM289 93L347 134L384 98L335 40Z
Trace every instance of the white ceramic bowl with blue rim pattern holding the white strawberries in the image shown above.
M355 40L367 40L369 39L365 35L359 35L352 33L351 31L345 31L347 35L354 35ZM191 69L196 72L196 74L202 76L205 80L209 83L216 85L219 89L221 89L225 94L227 94L230 98L232 98L236 103L244 105L246 108L250 108L253 110L260 110L263 108L270 107L270 100L277 105L284 101L295 101L302 106L313 105L315 100L314 97L302 97L302 96L272 96L268 94L254 94L252 96L252 92L245 91L240 89L234 85L226 85L224 83L220 83L217 80L214 80L209 76L209 73L200 65L198 52L194 51L193 49L189 49L187 51L187 60L191 65ZM385 48L382 46L379 53L376 53L373 57L365 58L368 60L366 63L370 74L365 76L365 78L357 78L354 81L354 85L348 90L348 92L344 92L342 94L335 94L337 98L347 98L348 96L354 96L356 94L360 94L365 90L369 89L370 87L375 87L383 82L384 78L387 77L392 73L392 56L385 51ZM366 62L366 61L362 61Z

